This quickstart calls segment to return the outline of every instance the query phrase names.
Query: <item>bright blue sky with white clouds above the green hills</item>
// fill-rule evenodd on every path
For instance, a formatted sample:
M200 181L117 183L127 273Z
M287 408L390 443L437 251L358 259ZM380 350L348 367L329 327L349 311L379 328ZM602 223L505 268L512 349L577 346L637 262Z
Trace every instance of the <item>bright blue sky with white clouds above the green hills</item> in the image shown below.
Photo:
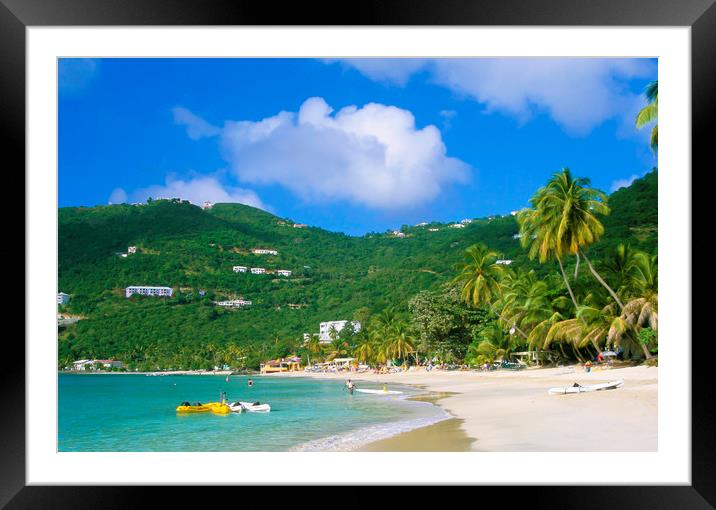
M59 206L241 202L360 235L656 166L649 59L63 59Z

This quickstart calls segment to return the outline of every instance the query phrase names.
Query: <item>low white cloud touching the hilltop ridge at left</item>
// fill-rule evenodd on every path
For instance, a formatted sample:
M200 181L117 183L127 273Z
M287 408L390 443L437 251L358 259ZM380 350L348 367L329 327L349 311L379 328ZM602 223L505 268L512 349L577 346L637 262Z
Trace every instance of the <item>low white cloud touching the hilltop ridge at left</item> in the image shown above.
M224 186L216 177L202 175L187 180L169 176L164 185L138 189L132 193L132 197L134 202L144 202L149 197L181 198L196 205L201 205L205 201L239 203L269 210L253 190Z

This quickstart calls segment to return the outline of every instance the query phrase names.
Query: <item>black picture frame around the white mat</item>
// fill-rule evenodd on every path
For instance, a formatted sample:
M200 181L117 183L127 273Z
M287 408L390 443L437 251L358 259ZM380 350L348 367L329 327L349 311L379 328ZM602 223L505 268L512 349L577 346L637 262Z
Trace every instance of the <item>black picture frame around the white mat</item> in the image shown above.
M5 142L4 161L15 168L25 167L25 29L29 26L688 26L692 43L692 166L703 166L704 172L708 168L707 157L712 152L709 145L713 142L708 143L707 127L716 111L714 0L362 0L354 4L285 4L277 7L245 0L0 0L0 139ZM682 171L693 178L691 169ZM24 188L23 182L16 178L16 189ZM30 268L26 266L25 270ZM698 309L696 300L692 303ZM498 488L501 494L509 494L511 505L524 503L530 507L544 503L550 508L714 508L716 422L714 399L708 389L713 370L709 370L710 342L708 338L701 340L704 342L693 342L691 348L690 486L542 487L537 497L534 488L510 488L507 492ZM16 410L3 413L0 422L0 506L120 508L128 506L128 501L136 501L137 493L146 489L25 485L25 414L19 412L25 406L25 363L19 361L25 357L22 346L16 349L13 362L5 364L0 376L4 407Z

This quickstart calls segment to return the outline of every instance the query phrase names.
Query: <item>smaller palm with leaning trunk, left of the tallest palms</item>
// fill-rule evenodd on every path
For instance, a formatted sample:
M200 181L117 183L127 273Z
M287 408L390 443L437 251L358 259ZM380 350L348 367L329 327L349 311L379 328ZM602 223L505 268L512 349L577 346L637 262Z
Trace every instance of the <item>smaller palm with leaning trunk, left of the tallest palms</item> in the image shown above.
M465 250L465 258L466 262L458 265L458 275L452 281L459 285L461 298L473 306L488 306L526 339L527 335L514 320L508 320L495 309L494 302L501 297L500 280L504 271L495 263L497 253L488 250L484 244L474 244Z

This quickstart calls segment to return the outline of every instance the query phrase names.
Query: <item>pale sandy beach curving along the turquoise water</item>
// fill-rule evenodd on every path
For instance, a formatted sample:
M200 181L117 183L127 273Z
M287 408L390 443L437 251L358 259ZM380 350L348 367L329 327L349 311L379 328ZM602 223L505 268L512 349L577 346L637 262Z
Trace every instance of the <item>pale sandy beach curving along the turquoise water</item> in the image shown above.
M656 451L658 368L635 366L594 370L578 366L519 372L417 371L397 374L283 373L276 377L316 377L401 383L449 393L437 404L459 420L407 432L382 441L380 451L411 450L437 431L473 451ZM550 395L548 389L623 379L615 390ZM429 429L430 427L425 427ZM437 434L439 435L439 434ZM472 441L464 441L465 435ZM462 437L460 437L462 436ZM414 441L411 441L414 438ZM447 441L448 437L444 438ZM436 443L440 450L440 441ZM443 445L447 444L445 441ZM415 448L418 449L417 447ZM447 448L446 448L447 449ZM376 448L367 448L376 450Z

